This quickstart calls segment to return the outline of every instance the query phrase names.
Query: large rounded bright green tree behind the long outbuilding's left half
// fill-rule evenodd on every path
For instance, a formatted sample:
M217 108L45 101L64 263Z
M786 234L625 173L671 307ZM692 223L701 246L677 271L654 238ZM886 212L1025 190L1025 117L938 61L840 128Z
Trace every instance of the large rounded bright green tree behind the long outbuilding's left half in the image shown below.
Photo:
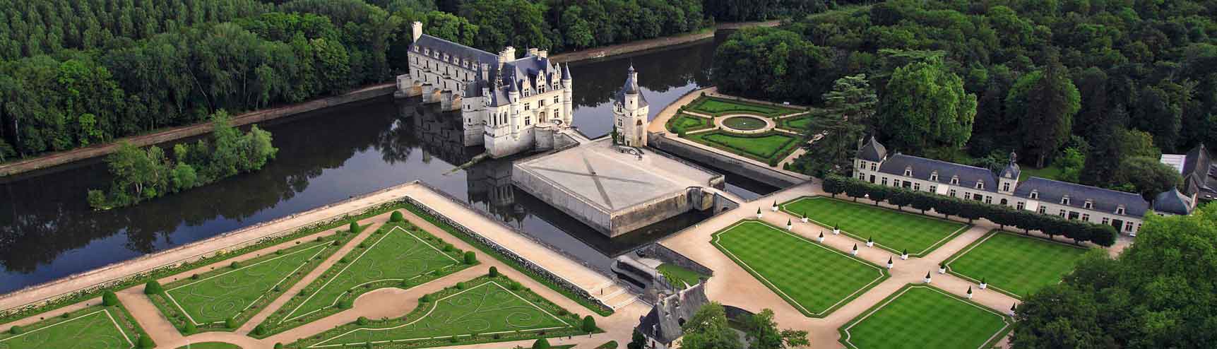
M922 153L959 150L972 134L976 95L940 60L912 63L892 73L880 100L879 124L896 148Z

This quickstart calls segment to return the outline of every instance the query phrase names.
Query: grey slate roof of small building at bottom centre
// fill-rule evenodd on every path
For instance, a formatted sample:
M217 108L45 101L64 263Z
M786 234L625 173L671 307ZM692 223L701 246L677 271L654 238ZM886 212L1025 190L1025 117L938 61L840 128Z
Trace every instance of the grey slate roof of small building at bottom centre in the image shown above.
M639 321L638 332L664 345L684 336L680 325L692 319L694 313L697 313L701 305L710 303L705 286L705 282L700 282L675 294L660 298L651 306L651 311L646 313Z

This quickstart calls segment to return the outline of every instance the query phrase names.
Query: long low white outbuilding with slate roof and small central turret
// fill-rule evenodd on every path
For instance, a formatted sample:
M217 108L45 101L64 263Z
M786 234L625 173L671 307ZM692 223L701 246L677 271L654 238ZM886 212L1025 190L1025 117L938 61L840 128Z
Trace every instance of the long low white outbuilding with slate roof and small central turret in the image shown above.
M1116 227L1137 236L1146 213L1187 215L1196 207L1195 195L1176 188L1145 202L1140 195L1032 176L1019 181L1015 154L997 175L983 168L907 154L888 154L870 137L859 142L854 176L871 184L927 191L963 199L982 201L1016 209L1055 214Z

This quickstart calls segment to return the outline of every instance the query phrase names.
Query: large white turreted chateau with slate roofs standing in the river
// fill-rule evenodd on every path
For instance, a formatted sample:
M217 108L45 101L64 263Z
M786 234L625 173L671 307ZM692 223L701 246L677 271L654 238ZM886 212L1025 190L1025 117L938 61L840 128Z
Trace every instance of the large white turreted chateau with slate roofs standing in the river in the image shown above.
M397 96L421 95L443 111L460 109L465 146L492 157L553 148L571 126L573 81L544 50L516 58L511 46L498 55L422 33L414 22L410 73L397 77Z

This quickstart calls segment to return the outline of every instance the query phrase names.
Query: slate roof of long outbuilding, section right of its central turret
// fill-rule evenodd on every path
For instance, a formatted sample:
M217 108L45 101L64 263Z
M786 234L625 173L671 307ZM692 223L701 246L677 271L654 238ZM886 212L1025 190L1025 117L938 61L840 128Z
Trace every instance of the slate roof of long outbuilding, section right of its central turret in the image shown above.
M1069 196L1069 206L1078 209L1086 209L1086 201L1089 199L1094 203L1094 208L1090 210L1095 212L1115 214L1116 208L1123 204L1123 215L1140 218L1145 215L1146 210L1149 210L1149 203L1137 193L1055 181L1037 176L1020 182L1019 187L1014 190L1014 196L1030 198L1032 191L1039 193L1038 201L1053 204L1060 204L1061 198Z

